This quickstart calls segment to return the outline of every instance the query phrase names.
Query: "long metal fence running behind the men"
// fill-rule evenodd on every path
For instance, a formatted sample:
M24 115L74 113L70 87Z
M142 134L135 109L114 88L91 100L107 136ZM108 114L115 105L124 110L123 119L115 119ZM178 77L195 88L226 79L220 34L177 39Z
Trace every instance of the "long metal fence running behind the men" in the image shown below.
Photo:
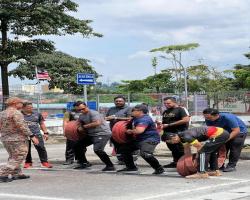
M165 108L163 107L163 99L165 97L176 97L178 103L185 106L184 94L167 94L167 93L127 93L127 94L88 94L88 100L96 102L97 109L105 113L108 107L114 105L114 97L123 95L128 105L134 106L140 103L149 105L152 113L159 114ZM67 102L74 102L77 100L84 100L83 95L71 95L62 93L44 93L44 94L30 94L22 91L11 92L10 96L18 96L25 100L34 103L42 111L54 114L63 112L66 109ZM0 96L1 102L6 98ZM1 106L3 107L3 106ZM220 111L232 112L238 115L250 114L250 92L248 91L231 91L218 93L195 93L188 96L188 110L191 115L201 115L203 109L207 107L217 108Z

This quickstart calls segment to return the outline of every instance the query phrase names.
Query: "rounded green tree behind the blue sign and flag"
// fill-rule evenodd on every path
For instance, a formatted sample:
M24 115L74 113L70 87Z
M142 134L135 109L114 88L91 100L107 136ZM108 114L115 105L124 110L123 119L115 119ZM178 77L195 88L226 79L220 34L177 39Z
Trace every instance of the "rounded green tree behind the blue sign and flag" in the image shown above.
M77 73L91 73L98 77L96 71L89 65L89 61L75 58L62 52L51 54L40 53L30 58L29 62L21 63L10 74L21 79L35 79L35 66L49 73L49 88L60 88L64 93L83 94L83 87L76 83Z

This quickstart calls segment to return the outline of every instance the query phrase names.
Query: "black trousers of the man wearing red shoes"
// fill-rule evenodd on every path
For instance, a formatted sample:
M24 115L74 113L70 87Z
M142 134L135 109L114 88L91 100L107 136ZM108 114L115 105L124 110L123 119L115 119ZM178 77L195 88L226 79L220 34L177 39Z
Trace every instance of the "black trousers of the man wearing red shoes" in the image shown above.
M39 140L39 143L37 145L34 144L34 147L37 150L40 161L41 162L48 162L48 155L47 155L46 148L44 146L43 136L41 134L39 134L39 135L36 135L35 137ZM25 162L32 163L31 140L29 140L29 142L28 142L28 154L27 154Z

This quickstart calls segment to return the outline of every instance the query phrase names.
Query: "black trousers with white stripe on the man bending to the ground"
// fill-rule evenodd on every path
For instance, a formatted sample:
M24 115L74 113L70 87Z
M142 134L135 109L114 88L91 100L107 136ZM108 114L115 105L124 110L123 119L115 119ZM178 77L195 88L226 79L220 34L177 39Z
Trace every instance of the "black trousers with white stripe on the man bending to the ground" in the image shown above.
M229 133L224 132L216 138L210 138L201 150L198 152L198 172L205 172L208 170L208 164L210 170L218 170L218 150L226 143L229 138Z

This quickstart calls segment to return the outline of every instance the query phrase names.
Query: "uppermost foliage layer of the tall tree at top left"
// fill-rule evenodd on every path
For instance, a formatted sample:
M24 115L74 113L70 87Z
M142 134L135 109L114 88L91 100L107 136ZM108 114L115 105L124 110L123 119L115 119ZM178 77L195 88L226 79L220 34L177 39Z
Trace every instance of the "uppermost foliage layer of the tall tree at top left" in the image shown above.
M11 34L65 35L81 33L88 37L101 36L89 26L91 20L70 15L78 5L70 0L1 0L1 21L6 21Z

